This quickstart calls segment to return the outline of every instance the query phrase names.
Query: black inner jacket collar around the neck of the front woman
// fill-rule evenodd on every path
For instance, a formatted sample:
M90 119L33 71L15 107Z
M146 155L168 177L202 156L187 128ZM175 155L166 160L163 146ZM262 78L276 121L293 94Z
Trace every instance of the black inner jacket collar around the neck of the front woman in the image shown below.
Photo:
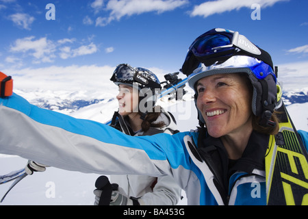
M234 172L246 172L251 175L255 168L265 169L264 157L268 140L269 136L253 131L242 157L230 165L227 151L220 138L213 138L209 136L206 129L199 129L198 154L213 173L216 188L222 197L227 197L229 178Z

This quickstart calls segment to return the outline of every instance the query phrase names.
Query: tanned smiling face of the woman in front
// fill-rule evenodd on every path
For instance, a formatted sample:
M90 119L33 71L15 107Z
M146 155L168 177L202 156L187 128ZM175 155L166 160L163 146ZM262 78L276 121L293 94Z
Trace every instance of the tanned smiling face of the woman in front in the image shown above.
M211 75L196 82L197 107L210 136L219 138L252 131L252 94L245 77Z

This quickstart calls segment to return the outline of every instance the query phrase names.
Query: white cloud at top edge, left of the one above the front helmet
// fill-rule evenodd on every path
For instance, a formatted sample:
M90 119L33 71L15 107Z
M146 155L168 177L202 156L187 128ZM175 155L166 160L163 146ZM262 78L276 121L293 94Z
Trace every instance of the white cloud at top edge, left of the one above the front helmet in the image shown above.
M105 26L114 20L119 21L123 16L175 10L188 2L188 0L110 0L105 7L105 10L111 11L110 16L97 18L96 26Z

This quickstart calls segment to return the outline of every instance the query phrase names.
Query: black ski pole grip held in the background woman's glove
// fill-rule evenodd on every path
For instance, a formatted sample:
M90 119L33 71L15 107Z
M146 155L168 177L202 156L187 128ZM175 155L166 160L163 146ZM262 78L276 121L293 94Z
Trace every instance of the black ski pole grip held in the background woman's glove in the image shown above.
M112 196L112 185L110 184L108 177L101 176L97 178L97 181L95 182L95 187L99 190L102 190L101 198L99 198L99 205L110 205L110 200Z

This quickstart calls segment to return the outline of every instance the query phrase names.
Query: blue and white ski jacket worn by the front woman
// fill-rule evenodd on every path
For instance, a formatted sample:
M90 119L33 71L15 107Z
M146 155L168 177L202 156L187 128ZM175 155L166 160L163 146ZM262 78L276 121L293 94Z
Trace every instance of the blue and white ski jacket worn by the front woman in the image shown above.
M185 190L188 205L265 205L265 172L257 168L253 174L231 175L225 202L213 170L195 150L198 135L132 137L91 120L40 109L16 94L0 99L0 153L86 173L170 175Z

